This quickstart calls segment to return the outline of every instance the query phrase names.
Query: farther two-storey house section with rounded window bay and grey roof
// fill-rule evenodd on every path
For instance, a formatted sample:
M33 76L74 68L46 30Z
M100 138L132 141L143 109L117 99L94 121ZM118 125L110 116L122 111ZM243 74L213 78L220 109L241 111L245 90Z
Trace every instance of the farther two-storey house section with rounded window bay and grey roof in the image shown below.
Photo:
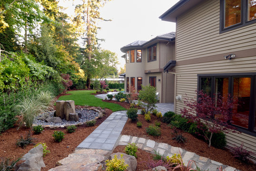
M159 35L149 41L137 40L124 47L126 53L125 90L129 85L137 91L141 85L152 85L157 88L160 103L174 102L174 76L163 73L166 63L175 58L175 32Z

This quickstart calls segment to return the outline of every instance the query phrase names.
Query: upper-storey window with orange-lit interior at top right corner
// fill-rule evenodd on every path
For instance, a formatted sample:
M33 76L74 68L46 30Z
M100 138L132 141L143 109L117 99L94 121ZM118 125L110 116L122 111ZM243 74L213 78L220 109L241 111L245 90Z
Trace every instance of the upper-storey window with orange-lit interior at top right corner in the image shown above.
M220 33L256 23L256 0L221 0Z

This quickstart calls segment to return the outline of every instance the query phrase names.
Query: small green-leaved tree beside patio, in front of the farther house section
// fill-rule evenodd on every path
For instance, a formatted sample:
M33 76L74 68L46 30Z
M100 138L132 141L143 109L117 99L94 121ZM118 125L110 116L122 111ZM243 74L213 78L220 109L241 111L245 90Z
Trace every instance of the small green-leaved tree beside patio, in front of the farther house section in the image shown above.
M142 85L142 89L139 91L139 101L138 104L146 109L146 112L154 110L156 108L157 98L156 98L156 87Z

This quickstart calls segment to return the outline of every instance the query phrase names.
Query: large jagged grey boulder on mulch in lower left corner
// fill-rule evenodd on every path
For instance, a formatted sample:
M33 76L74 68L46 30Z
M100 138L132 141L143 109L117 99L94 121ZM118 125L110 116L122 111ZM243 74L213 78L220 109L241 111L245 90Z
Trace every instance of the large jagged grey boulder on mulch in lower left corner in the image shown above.
M15 171L41 171L41 167L45 167L43 161L43 146L39 144L37 147L32 148L25 154L20 161L21 164L15 164Z

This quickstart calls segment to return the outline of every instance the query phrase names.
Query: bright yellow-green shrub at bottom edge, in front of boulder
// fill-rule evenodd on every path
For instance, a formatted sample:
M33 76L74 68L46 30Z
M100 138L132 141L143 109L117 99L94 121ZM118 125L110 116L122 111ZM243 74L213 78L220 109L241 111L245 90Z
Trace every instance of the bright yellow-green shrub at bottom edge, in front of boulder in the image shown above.
M117 155L114 155L114 159L106 161L106 171L125 171L128 164L125 164L123 155L121 154L121 159L118 159Z

